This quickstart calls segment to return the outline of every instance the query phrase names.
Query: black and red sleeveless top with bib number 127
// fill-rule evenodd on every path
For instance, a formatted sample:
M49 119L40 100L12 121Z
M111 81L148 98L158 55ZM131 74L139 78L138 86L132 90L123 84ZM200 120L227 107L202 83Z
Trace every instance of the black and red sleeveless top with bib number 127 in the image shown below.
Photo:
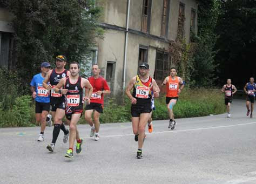
M70 83L70 78L66 77L64 88L68 89L68 92L66 93L66 100L69 107L76 107L83 104L83 87L81 86L81 82L81 77L78 77L75 84Z

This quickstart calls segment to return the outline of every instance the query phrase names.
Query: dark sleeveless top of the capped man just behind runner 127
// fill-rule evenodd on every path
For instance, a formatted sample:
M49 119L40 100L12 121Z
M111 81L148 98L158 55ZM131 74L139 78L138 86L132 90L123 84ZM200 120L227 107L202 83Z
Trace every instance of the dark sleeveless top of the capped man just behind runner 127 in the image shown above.
M64 69L63 72L58 73L56 72L56 69L53 69L50 75L50 84L52 86L52 90L50 93L50 97L51 97L51 104L59 104L64 102L64 97L62 96L62 94L56 93L54 91L54 87L59 83L60 79L62 79L63 77L66 77L68 73L68 70Z

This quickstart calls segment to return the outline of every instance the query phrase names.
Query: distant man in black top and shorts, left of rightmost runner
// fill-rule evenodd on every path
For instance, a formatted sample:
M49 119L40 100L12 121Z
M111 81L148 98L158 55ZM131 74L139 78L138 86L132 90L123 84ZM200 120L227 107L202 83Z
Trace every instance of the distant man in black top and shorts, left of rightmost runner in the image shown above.
M237 92L237 88L231 84L231 79L227 79L227 84L221 88L221 92L225 93L225 105L227 106L227 118L231 117L230 106L232 103L233 95Z

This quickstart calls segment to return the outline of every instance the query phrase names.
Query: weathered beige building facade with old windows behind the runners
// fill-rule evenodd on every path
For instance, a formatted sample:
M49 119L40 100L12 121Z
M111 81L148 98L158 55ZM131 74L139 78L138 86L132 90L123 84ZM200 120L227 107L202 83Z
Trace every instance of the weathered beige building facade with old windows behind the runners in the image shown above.
M161 81L169 74L169 43L178 36L190 40L197 33L196 0L105 0L100 18L104 39L97 39L95 62L112 92L124 89L147 62L150 74Z

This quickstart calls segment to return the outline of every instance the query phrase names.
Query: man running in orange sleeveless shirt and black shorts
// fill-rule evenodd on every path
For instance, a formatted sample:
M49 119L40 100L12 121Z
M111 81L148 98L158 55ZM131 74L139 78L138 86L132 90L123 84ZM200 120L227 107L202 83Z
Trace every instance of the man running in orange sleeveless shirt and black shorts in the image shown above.
M166 85L167 84L167 85ZM166 85L166 104L169 111L169 127L172 130L175 128L176 121L174 120L173 115L173 106L177 103L179 98L179 93L184 87L183 80L180 77L177 77L177 70L175 67L171 68L170 76L166 77L162 83Z

